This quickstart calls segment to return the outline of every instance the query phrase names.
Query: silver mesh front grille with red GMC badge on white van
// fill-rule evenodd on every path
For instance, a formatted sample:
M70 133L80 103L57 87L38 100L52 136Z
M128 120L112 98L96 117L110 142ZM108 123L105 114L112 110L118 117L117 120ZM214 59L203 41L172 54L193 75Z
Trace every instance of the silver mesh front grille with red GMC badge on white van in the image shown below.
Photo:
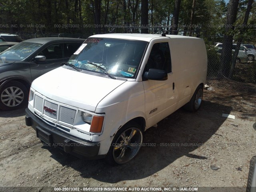
M40 111L41 113L43 112L43 116L53 118L57 122L66 123L71 126L74 124L74 120L76 117L76 109L58 105L36 94L34 100L34 108Z

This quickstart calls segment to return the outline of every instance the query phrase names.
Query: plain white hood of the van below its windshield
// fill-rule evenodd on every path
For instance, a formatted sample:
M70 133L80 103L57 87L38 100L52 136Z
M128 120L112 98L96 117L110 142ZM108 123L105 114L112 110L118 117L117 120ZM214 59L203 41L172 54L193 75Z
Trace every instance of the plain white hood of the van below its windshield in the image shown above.
M59 67L36 78L31 87L51 100L94 112L124 82Z

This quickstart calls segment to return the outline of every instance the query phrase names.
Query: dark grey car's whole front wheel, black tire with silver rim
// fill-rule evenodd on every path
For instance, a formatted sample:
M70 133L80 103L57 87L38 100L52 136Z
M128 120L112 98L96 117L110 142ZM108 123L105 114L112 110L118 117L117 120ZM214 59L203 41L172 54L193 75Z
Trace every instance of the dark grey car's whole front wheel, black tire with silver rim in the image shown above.
M28 90L17 81L10 81L0 90L0 109L8 111L22 108L28 102Z

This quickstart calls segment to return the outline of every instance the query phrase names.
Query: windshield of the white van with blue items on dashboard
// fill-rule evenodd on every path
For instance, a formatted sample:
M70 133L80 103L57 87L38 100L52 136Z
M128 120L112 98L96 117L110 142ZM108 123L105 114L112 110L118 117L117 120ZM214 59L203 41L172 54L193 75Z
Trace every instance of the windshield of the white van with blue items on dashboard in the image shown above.
M135 78L147 42L114 38L88 38L68 60L79 69ZM92 64L90 64L92 63Z

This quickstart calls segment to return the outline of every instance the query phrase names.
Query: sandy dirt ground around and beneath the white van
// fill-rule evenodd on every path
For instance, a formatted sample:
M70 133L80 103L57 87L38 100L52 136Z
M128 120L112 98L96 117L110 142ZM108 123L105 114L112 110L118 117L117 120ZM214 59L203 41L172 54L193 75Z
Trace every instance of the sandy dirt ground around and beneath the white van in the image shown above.
M204 90L198 112L179 109L148 129L144 142L156 146L122 166L44 147L24 109L0 111L0 186L245 187L256 154L256 93L241 84L208 85L214 90Z

